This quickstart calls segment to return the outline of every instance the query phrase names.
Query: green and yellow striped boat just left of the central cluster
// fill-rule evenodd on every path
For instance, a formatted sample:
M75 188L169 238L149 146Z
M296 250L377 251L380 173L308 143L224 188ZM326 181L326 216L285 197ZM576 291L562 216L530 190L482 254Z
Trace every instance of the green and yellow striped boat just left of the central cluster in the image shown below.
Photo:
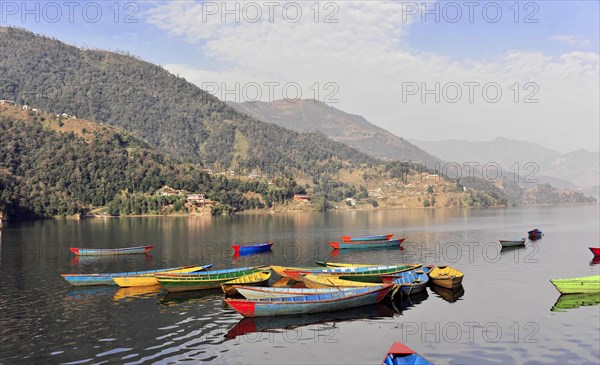
M193 274L162 274L156 275L156 279L167 291L181 292L220 288L223 283L265 270L269 270L269 267L253 266Z

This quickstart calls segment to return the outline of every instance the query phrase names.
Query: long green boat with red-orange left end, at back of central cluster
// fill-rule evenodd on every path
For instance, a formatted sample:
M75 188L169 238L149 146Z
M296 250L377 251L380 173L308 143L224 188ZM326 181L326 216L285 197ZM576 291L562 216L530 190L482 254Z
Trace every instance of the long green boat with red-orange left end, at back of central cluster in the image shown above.
M369 266L369 267L333 267L328 269L287 269L285 270L285 276L292 278L296 281L302 281L302 275L314 274L314 275L329 275L337 276L340 279L356 280L356 281L367 281L367 282L379 282L381 283L381 275L395 274L398 272L416 269L422 265L381 265L381 266Z

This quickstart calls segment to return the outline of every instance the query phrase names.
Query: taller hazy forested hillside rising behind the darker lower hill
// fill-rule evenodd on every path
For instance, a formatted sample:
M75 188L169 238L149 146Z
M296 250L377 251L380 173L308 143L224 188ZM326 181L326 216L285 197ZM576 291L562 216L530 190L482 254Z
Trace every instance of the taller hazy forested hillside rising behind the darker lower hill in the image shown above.
M121 127L182 161L218 169L300 169L375 159L320 133L237 113L185 79L135 57L83 50L0 28L0 99Z

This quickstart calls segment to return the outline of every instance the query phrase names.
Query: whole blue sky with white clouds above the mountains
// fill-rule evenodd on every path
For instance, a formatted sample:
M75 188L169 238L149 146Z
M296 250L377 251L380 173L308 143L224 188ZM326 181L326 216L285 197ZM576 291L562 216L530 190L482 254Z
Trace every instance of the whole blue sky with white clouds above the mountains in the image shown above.
M407 139L598 151L598 1L7 1L0 23L123 50L222 100L316 99Z

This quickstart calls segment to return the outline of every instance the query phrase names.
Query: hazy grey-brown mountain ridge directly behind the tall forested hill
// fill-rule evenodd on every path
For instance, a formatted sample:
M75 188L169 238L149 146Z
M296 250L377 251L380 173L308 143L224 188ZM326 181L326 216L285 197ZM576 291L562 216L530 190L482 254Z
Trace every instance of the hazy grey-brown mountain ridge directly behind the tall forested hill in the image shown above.
M318 131L377 158L425 162L433 168L441 160L360 115L349 114L316 100L229 102L239 112L297 132Z

